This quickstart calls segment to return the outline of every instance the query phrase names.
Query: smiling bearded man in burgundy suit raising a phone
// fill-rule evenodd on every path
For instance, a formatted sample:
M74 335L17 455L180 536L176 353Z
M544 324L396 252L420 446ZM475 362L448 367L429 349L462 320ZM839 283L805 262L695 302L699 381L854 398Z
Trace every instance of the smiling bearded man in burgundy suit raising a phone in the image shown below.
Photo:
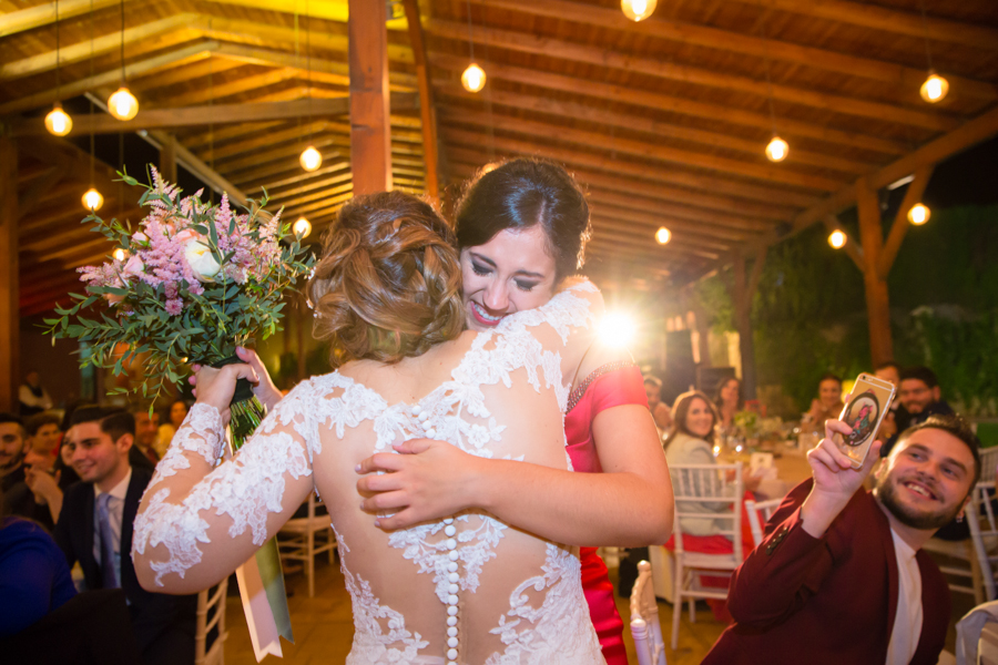
M813 479L787 494L732 575L735 621L704 664L937 662L949 590L920 548L963 515L980 477L977 437L957 417L931 417L902 433L867 492L879 442L856 471L831 440L849 431L827 421L807 454Z

